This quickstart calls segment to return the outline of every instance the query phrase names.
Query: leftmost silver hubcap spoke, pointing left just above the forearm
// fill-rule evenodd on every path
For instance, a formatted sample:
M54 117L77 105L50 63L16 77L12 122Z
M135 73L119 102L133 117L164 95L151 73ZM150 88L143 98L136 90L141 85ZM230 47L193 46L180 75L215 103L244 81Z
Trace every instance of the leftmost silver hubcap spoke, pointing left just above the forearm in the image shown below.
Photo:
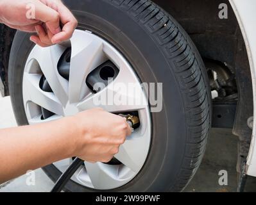
M64 116L62 104L56 98L55 94L44 92L39 86L40 75L24 74L24 91L28 91L26 102L32 101L38 106L55 113L56 115Z

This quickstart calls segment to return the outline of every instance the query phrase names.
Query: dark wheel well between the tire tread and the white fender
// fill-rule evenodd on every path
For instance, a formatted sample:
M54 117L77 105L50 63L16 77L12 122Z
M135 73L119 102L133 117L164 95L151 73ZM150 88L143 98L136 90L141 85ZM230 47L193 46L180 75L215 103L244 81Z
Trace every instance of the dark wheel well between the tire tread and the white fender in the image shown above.
M210 86L212 90L218 88L223 96L213 100L212 126L232 128L239 136L237 171L241 173L252 140L248 119L253 115L253 91L248 54L232 6L228 0L154 2L183 26L206 68L217 73L217 83L209 78ZM228 19L219 19L221 3L228 6Z

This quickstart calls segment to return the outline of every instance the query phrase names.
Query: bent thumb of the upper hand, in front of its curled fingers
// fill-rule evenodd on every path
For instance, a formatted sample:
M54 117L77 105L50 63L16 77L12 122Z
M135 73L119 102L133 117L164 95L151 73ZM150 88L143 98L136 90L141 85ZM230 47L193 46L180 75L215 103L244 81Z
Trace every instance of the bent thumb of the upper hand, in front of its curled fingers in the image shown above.
M62 31L60 28L60 14L40 1L35 7L35 19L44 22L54 35Z

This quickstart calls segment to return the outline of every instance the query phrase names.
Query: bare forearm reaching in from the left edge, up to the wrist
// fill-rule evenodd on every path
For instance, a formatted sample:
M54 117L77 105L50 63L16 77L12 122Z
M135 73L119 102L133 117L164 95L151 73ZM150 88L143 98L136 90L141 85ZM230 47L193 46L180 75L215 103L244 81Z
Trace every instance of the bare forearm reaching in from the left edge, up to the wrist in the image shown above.
M71 158L77 144L71 126L69 119L62 119L0 130L0 184L28 170Z

